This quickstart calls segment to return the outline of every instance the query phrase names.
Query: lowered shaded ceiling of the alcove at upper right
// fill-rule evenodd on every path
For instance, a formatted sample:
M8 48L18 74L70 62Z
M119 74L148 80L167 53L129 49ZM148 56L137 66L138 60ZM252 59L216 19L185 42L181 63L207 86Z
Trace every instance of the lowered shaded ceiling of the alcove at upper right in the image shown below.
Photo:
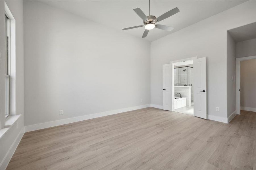
M256 38L256 22L228 30L234 41L245 41Z

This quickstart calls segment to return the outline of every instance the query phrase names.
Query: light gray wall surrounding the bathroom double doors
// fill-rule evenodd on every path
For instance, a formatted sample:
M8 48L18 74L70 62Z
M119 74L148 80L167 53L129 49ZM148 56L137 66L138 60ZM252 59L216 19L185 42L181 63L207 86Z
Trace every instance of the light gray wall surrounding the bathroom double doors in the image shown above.
M227 30L256 21L256 1L247 1L151 42L151 104L162 105L162 65L206 57L208 118L227 118ZM215 111L219 107L219 112Z

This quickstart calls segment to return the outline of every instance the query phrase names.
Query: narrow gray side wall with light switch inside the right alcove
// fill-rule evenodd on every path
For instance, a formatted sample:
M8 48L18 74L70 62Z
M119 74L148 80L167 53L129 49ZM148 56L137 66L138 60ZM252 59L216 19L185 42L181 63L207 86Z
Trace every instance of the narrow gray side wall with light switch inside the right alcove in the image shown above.
M236 111L236 43L227 32L227 112ZM233 76L233 80L232 80Z

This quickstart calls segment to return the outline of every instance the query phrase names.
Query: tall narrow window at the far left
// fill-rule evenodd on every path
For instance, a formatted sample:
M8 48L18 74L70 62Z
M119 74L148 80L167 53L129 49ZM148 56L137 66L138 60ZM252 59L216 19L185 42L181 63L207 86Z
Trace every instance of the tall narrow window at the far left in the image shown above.
M10 115L10 20L5 14L5 118Z

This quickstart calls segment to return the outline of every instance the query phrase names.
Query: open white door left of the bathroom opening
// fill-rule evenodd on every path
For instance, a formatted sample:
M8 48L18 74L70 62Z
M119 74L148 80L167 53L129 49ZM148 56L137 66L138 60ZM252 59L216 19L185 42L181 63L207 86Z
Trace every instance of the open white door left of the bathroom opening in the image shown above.
M172 66L163 65L163 110L172 111Z

